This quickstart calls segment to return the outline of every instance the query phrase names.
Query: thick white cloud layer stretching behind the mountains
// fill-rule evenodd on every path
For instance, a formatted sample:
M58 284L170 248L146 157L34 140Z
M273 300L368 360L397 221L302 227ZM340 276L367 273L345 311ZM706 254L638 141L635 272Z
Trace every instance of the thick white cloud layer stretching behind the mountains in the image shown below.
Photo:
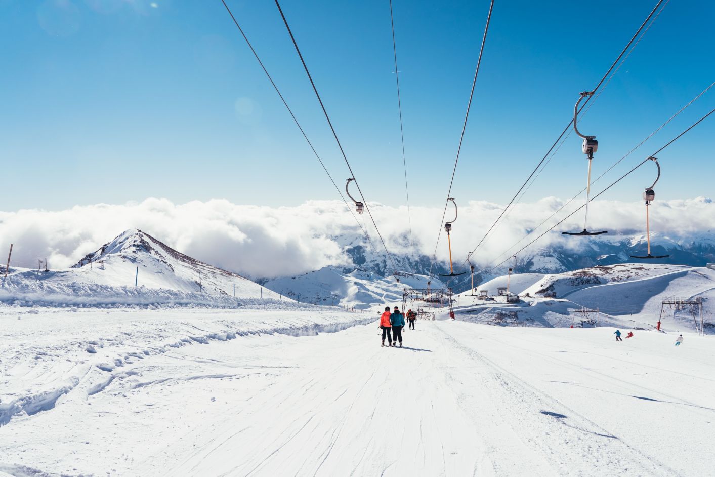
M506 222L483 242L474 261L488 265L563 203L548 197L517 205L508 213ZM568 205L536 234L582 204L583 200ZM463 260L467 252L473 250L501 213L501 207L490 202L460 204L451 237L455 261ZM372 204L370 210L390 252L409 252L407 208ZM443 209L438 207L412 207L416 251L433 254L442 213ZM593 202L589 228L642 233L644 215L643 202ZM382 245L370 217L367 213L356 217L361 225L365 223L368 227L373 244L380 252ZM452 217L450 205L446 220ZM363 242L360 228L342 202L305 202L298 207L274 208L236 205L227 200L174 204L165 199L147 199L124 205L77 206L56 212L0 212L0 253L6 253L13 243L13 265L36 267L37 259L46 257L50 267L69 267L129 228L144 230L180 252L249 277L294 275L325 265L344 265L348 260L342 247ZM581 229L583 210L556 230ZM651 230L656 236L671 236L676 240L697 232L715 232L715 204L704 198L654 202ZM521 245L526 245L531 238ZM448 251L443 232L440 240L437 257L446 260ZM535 246L553 241L583 245L583 240L568 242L558 232L551 232ZM5 260L0 257L2 265Z

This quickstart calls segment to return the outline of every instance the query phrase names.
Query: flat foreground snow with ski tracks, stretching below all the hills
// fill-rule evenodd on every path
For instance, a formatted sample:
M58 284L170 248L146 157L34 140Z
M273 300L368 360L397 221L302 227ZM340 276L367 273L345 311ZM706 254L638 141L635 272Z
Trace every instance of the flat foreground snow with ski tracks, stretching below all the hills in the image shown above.
M0 475L712 474L711 336L376 318L2 308Z

